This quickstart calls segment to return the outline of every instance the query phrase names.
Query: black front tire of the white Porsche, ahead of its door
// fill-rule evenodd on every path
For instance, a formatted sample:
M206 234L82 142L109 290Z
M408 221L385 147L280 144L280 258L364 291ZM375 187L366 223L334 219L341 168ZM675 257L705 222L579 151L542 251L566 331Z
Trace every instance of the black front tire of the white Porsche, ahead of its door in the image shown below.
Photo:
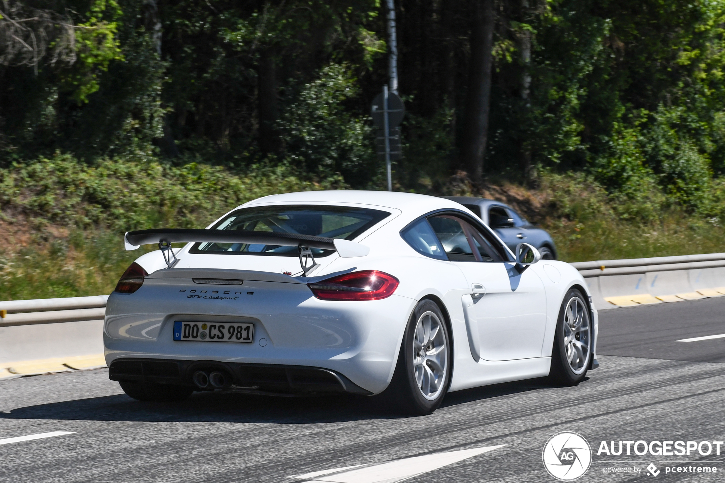
M575 288L566 293L564 300L559 308L559 317L556 322L556 332L554 335L554 346L551 353L551 369L549 371L549 379L558 385L574 386L579 384L584 377L587 377L589 364L592 360L592 341L594 327L592 326L591 317L589 316L589 306L584 301L584 296ZM573 301L573 302L572 302ZM568 312L570 303L576 304L576 308L572 308ZM573 307L572 306L572 307ZM576 315L573 315L576 311ZM579 332L576 330L565 330L571 327L571 322L576 326L576 319L580 319ZM584 327L587 327L584 331ZM567 334L568 332L568 334ZM573 336L571 336L573 334ZM568 343L566 342L568 340ZM579 343L580 350L574 350L573 347ZM567 346L569 352L567 352ZM583 349L586 345L587 350ZM573 362L570 363L568 353L572 353ZM584 353L586 352L586 353Z

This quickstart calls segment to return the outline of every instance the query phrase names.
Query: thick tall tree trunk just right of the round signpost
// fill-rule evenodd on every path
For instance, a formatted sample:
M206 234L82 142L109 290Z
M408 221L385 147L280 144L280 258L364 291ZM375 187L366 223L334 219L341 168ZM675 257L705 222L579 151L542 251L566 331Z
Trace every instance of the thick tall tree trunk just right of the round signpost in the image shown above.
M484 174L484 156L489 130L491 104L491 64L494 33L493 0L473 2L471 30L471 71L468 74L463 164L475 182Z

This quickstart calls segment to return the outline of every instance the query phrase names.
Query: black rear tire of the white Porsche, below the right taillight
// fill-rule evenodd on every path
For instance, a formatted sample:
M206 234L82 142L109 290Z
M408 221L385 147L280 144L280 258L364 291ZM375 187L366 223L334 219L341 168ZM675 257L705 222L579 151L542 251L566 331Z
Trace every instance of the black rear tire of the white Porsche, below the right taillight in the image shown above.
M431 317L430 314L434 314L434 317ZM418 384L418 379L416 378L415 369L416 366L419 369L422 367L421 364L416 365L416 361L425 361L423 364L431 362L426 360L426 353L424 351L428 345L426 345L426 348L423 348L422 358L421 352L418 352L414 347L416 339L415 329L418 327L418 322L421 321L421 319L423 319L423 324L426 322L426 319L423 318L424 316L431 321L433 321L434 318L437 318L437 325L439 330L442 331L442 337L439 337L436 332L435 340L431 340L428 355L433 353L436 348L441 347L440 345L436 347L436 344L439 344L439 342L436 341L444 341L444 345L441 350L436 353L436 355L442 354L442 357L444 358L444 367L442 368L443 370L440 371L442 377L437 379L439 382L436 384L436 392L432 395L428 395L428 397L423 395L423 390ZM432 324L434 322L430 323ZM410 316L410 320L405 328L405 334L403 335L403 341L400 347L400 353L395 366L393 379L388 388L381 394L381 399L384 400L384 404L388 406L388 408L396 412L415 415L432 413L441 405L448 387L450 386L453 366L452 362L450 335L446 319L443 316L441 309L434 301L423 299L418 302L418 305L416 305L413 310L413 314ZM428 365L427 367L430 368L431 366ZM425 368L423 368L423 370L424 369ZM430 371L430 373L434 374L434 371ZM426 385L425 382L423 385Z

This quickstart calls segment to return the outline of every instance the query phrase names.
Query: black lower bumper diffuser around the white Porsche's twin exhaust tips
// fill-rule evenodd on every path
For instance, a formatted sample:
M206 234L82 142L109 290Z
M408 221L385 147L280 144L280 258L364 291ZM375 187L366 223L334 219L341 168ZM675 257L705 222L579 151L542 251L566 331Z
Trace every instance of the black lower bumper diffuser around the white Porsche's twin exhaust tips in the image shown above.
M111 364L108 377L113 381L143 381L196 387L192 379L196 371L223 371L228 374L231 385L225 387L226 392L268 395L315 395L331 392L372 394L330 369L279 364L124 358Z

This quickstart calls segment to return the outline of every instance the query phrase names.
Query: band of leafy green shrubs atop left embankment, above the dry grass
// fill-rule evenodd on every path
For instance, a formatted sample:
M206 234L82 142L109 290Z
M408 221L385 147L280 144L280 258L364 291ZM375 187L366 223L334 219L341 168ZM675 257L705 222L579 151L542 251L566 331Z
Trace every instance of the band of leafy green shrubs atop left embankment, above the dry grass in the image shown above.
M262 196L345 188L341 177L301 180L288 164L257 164L245 175L223 167L155 161L99 161L95 166L71 156L54 156L0 169L4 220L36 224L101 227L115 232L163 224L205 226L226 211ZM11 217L12 216L12 217Z

